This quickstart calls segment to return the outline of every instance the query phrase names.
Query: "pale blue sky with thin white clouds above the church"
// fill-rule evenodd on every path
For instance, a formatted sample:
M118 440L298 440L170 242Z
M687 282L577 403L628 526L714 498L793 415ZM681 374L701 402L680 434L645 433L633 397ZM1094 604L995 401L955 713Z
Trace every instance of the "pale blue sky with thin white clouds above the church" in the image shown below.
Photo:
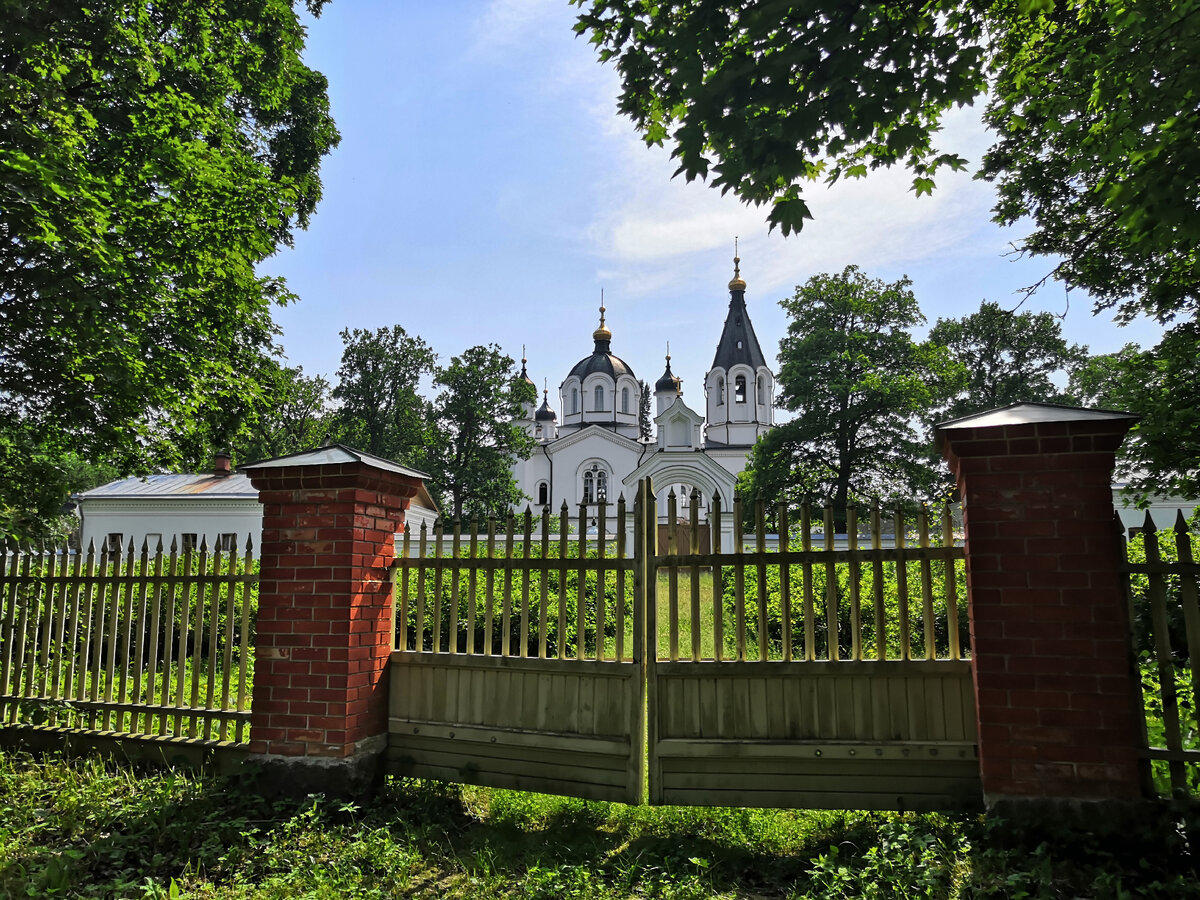
M672 179L670 149L647 148L617 114L618 77L575 36L575 14L566 0L335 0L308 19L305 58L329 78L342 142L308 229L262 266L300 296L276 311L288 365L334 380L343 329L400 324L443 362L485 343L520 359L524 346L560 412L557 388L592 353L602 290L612 352L653 383L670 341L684 400L702 410L734 236L776 371L779 301L814 275L853 263L907 276L928 328L985 299L1016 307L1052 268L1008 256L1024 232L990 222L994 191L968 174L940 175L920 198L900 169L815 182L815 221L769 233L766 208ZM978 162L979 112L954 110L941 149ZM1159 334L1093 316L1056 283L1022 308L1063 316L1066 337L1092 353Z

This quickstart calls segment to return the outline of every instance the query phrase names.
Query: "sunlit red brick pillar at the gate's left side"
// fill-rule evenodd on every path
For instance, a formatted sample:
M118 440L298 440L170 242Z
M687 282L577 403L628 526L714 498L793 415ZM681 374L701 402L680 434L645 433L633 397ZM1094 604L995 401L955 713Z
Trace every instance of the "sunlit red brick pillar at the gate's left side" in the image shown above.
M386 744L392 535L422 475L337 445L245 469L263 504L251 758L266 790L368 792Z

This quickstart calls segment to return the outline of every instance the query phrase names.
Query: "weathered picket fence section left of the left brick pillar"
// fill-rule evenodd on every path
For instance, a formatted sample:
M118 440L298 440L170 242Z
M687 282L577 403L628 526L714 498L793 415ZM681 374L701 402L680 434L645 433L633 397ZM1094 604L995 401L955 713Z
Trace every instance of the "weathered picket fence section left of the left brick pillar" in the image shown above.
M251 547L0 548L0 725L246 742Z

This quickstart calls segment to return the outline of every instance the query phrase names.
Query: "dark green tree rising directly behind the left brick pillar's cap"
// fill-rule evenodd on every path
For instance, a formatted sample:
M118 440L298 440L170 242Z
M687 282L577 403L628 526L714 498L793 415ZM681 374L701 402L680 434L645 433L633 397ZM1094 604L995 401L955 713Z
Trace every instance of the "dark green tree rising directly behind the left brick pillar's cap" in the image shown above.
M430 403L420 394L437 362L433 349L400 325L342 331L342 365L334 428L342 440L376 456L413 464L428 443Z

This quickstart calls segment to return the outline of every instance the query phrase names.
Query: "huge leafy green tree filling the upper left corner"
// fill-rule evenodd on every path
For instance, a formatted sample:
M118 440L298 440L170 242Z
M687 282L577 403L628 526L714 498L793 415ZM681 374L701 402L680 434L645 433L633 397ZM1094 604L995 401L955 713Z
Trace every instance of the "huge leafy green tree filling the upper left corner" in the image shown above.
M307 224L338 139L294 7L0 0L0 401L22 427L144 470L257 402L293 298L256 266Z

